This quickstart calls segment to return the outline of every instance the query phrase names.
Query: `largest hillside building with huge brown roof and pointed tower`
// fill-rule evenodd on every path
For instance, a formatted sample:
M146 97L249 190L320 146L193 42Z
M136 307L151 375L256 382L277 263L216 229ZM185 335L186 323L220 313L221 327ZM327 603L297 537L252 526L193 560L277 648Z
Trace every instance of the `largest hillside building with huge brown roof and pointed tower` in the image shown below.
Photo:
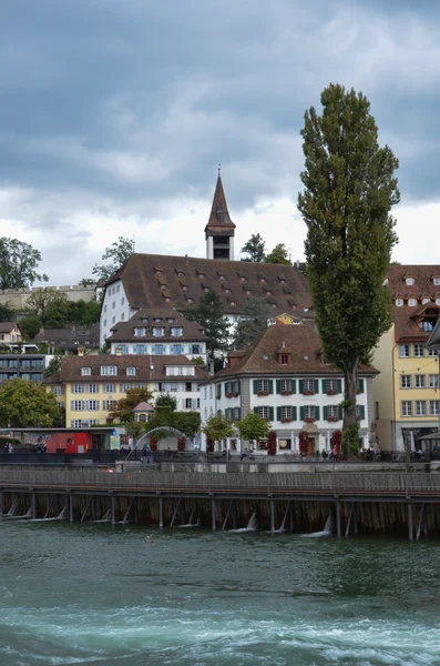
M311 296L299 269L234 261L234 230L218 178L205 228L208 259L133 254L105 283L100 345L112 335L116 323L130 320L141 307L185 312L209 289L221 296L232 324L250 296L264 297L274 314L290 312L310 317Z

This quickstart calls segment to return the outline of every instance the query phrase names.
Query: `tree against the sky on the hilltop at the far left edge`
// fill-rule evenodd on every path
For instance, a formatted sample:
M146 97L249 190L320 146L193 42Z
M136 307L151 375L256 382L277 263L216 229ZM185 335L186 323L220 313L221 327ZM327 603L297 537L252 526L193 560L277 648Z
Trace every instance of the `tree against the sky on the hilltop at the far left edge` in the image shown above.
M25 289L34 282L48 282L38 272L41 253L17 239L0 239L0 289Z

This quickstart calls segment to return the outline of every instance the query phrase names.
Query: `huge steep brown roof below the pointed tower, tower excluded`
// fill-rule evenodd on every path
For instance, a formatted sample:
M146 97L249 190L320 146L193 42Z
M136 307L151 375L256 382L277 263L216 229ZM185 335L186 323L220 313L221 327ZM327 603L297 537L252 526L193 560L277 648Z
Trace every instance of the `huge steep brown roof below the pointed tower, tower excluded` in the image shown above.
M277 314L300 315L311 307L307 280L295 266L133 254L106 284L119 280L134 309L166 304L185 311L209 289L221 296L227 314L242 314L249 296L266 299Z

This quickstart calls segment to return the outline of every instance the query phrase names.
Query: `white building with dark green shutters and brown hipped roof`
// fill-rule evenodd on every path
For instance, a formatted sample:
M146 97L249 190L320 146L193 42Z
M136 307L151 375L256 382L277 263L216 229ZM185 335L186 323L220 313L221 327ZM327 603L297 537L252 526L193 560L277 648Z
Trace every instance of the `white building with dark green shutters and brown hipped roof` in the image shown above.
M233 352L228 365L201 387L202 422L219 412L239 421L254 411L272 423L278 453L297 452L298 435L308 435L308 453L329 448L331 434L342 427L344 377L325 363L318 334L306 324L269 326L246 352ZM359 445L368 446L374 421L374 367L359 371ZM238 436L226 447L239 451L248 443ZM265 442L258 443L265 453Z

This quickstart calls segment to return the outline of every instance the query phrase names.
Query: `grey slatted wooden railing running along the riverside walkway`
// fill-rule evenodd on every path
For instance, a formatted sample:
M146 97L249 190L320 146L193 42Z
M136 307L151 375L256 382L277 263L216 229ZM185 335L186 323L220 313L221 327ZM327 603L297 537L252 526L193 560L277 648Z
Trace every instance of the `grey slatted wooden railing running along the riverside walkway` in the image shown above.
M0 487L75 488L86 491L127 490L142 492L246 493L256 495L382 495L412 494L440 497L437 473L242 473L139 471L104 473L101 470L0 468Z

